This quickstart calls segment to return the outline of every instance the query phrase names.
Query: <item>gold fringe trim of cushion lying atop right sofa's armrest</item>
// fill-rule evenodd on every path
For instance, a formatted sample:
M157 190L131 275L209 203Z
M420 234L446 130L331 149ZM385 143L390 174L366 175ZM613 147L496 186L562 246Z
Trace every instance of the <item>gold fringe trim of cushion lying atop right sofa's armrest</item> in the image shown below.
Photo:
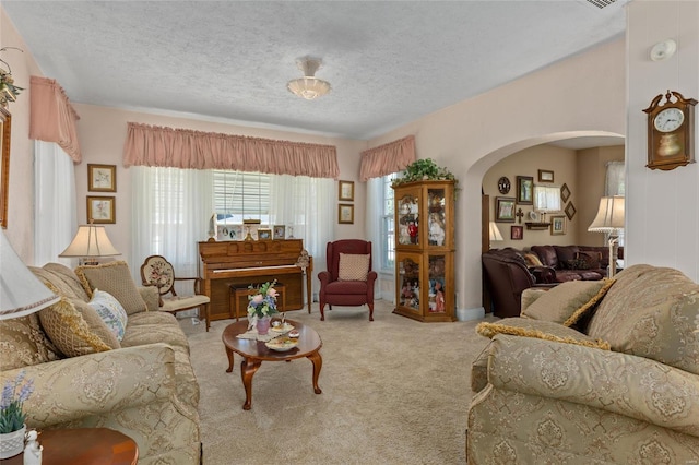
M476 332L482 336L493 338L497 334L535 337L555 343L577 344L585 347L609 350L609 344L593 339L569 327L548 321L532 321L519 318L506 318L499 323L478 323Z

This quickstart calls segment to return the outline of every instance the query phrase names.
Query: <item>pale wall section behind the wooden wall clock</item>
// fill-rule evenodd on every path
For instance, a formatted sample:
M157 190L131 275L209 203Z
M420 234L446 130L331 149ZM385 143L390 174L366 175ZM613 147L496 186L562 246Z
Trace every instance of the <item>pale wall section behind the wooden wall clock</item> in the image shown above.
M651 170L647 115L667 90L699 98L699 2L639 1L627 5L628 146L625 264L653 263L699 281L699 165ZM651 47L666 38L677 53L651 61ZM697 110L695 110L697 111ZM695 117L695 133L699 134ZM695 142L695 153L697 142Z

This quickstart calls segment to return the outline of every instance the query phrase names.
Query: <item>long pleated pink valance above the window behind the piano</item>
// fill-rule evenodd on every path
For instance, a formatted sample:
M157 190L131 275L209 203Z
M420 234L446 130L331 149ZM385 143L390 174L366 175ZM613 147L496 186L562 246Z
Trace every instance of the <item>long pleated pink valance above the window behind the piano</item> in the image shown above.
M271 175L340 176L334 145L128 123L123 165L233 169Z

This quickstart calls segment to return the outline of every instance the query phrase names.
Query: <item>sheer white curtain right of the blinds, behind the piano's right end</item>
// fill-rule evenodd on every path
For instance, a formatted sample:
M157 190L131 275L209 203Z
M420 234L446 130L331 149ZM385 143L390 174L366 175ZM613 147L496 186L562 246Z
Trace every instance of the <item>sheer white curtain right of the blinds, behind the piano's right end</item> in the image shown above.
M335 182L329 178L273 175L271 180L271 222L292 227L294 237L304 240L304 247L313 258L313 276L310 276L313 294L320 288L316 276L325 270L325 247L333 240L334 193Z

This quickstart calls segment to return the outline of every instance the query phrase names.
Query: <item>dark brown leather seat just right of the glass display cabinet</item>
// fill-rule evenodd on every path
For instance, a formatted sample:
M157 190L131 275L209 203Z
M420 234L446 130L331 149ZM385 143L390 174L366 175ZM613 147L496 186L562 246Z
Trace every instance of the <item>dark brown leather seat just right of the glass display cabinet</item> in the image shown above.
M524 289L549 288L557 284L553 269L529 267L522 252L511 247L489 250L482 255L482 261L496 317L519 317Z

